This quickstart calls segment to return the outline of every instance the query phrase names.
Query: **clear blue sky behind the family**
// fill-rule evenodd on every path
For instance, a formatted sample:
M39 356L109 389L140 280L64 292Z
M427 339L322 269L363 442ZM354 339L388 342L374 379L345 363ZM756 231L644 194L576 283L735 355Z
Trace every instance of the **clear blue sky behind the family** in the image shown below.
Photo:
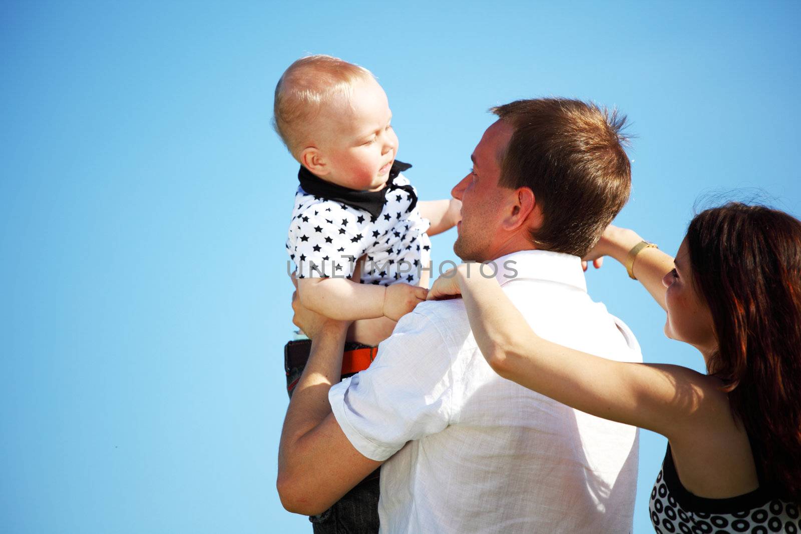
M311 532L275 491L296 163L270 119L301 55L378 76L423 199L489 106L553 94L629 115L618 223L666 251L700 198L801 215L795 2L298 6L0 3L3 532ZM622 267L588 284L647 361L700 369ZM642 432L634 532L664 448Z

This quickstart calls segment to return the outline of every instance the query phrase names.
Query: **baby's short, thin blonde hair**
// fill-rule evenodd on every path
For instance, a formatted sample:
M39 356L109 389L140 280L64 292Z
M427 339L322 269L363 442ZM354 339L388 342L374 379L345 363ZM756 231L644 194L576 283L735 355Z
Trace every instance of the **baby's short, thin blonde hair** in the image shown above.
M349 97L356 80L374 80L372 72L330 55L316 54L292 63L276 85L272 124L295 159L311 139L312 122L332 97Z

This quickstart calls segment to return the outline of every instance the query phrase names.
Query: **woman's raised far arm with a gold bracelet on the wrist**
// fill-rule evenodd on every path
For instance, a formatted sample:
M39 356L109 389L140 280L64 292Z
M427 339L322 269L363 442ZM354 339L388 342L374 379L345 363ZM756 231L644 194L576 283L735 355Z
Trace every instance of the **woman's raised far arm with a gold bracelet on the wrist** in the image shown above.
M584 259L589 261L602 256L611 256L626 265L629 252L641 241L642 238L637 232L610 224L606 227L598 244ZM634 267L632 269L634 276L654 297L654 300L657 301L662 309L665 309L666 291L666 287L662 285L662 279L671 269L673 269L673 257L658 248L643 248L634 258Z

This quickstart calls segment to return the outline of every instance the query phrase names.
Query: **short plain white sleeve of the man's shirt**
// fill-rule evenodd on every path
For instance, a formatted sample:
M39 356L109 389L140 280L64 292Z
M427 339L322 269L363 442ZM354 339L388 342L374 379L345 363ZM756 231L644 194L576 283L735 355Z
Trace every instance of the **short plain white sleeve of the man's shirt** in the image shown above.
M453 355L425 315L404 315L370 367L334 385L328 400L357 451L383 461L453 416Z

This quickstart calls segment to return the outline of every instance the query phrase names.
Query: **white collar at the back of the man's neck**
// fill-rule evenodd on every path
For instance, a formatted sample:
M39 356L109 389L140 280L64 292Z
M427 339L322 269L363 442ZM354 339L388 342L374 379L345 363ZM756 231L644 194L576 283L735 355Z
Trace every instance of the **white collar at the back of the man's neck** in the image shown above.
M501 286L512 280L547 280L587 291L578 256L552 251L517 251L494 259L495 279ZM488 273L489 274L489 273Z

